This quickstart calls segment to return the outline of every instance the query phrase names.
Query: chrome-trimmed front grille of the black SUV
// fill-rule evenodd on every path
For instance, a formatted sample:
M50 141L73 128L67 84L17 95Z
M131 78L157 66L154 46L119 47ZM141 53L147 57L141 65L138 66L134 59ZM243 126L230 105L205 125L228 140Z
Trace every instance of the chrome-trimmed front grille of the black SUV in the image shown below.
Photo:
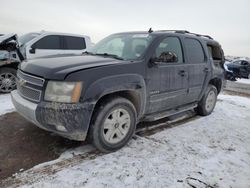
M17 90L19 94L30 101L40 102L44 79L32 76L22 71L17 72Z

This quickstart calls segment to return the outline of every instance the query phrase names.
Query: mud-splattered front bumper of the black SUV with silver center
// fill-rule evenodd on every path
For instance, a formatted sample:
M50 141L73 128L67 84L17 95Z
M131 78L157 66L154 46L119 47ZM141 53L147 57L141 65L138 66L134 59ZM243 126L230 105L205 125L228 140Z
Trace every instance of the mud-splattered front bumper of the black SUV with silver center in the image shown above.
M11 92L11 98L17 112L38 127L72 140L86 139L94 104L36 104L21 97L17 90Z

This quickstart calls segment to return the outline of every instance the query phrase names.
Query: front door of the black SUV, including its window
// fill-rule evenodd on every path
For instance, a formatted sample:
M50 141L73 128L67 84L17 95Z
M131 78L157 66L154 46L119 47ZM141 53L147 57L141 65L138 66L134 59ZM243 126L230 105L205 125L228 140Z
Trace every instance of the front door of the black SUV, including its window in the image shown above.
M175 54L176 61L164 62L161 56ZM165 111L183 103L187 95L187 67L183 61L183 50L178 37L166 37L159 41L153 57L157 60L148 68L148 114Z

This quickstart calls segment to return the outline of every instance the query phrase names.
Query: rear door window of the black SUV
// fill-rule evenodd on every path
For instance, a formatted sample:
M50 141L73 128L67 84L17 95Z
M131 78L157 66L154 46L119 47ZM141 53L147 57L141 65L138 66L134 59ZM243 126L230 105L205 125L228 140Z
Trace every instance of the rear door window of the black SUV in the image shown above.
M205 60L201 43L196 39L186 38L185 47L187 50L187 60L189 63L202 63ZM210 49L210 55L212 49Z

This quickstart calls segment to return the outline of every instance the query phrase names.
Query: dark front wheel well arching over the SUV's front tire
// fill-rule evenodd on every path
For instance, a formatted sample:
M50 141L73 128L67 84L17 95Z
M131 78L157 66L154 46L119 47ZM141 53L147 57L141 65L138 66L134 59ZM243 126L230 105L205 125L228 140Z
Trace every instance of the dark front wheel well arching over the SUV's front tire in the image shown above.
M129 100L130 102L132 102L132 104L135 106L136 112L137 112L137 116L140 114L140 96L139 93L137 93L136 91L130 91L130 90L126 90L126 91L117 91L114 93L109 93L106 94L104 96L102 96L96 103L95 108L94 108L94 112L97 110L97 108L100 106L100 104L104 103L105 101L112 99L114 97L123 97L127 100Z

